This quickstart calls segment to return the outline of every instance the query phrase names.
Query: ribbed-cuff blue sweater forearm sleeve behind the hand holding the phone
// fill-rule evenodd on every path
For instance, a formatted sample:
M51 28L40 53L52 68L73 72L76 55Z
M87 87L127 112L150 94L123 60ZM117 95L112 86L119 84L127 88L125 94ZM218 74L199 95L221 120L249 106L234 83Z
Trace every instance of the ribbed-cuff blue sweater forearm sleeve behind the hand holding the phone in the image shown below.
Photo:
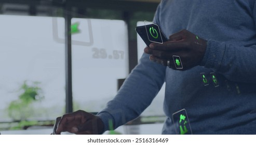
M212 68L228 80L255 83L256 46L234 46L209 39L202 65Z

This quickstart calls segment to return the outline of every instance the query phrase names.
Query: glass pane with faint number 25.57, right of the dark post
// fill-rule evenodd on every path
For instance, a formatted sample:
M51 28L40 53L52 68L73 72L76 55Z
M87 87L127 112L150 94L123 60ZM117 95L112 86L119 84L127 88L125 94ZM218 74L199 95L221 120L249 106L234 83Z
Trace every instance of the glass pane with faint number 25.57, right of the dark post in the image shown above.
M128 32L121 20L72 19L74 110L98 112L128 75Z

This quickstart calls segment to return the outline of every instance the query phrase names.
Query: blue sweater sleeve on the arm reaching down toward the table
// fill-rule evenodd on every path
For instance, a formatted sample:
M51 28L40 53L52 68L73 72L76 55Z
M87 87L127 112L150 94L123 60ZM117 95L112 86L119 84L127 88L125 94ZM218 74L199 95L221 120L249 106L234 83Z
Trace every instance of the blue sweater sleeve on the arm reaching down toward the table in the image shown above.
M109 120L114 129L137 118L152 102L165 81L166 67L149 60L143 54L139 64L132 70L115 98L98 113L109 130Z

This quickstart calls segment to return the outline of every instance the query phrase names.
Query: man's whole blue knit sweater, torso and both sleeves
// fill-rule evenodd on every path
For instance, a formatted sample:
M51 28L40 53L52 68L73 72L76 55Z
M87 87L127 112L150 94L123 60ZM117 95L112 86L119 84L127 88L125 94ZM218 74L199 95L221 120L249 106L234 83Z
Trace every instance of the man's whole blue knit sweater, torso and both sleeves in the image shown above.
M255 1L163 0L154 22L167 37L186 29L206 39L203 62L179 71L143 54L118 94L98 114L105 130L110 119L116 128L138 117L166 82L163 134L176 134L172 114L182 109L193 134L256 134Z

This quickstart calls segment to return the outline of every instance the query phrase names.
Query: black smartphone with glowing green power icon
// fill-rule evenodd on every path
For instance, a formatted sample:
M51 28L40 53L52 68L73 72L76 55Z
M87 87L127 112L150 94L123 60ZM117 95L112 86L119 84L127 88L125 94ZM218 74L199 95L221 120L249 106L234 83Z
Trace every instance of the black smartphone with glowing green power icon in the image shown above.
M163 42L168 41L156 24L137 26L135 30L148 47L152 42L163 44Z

